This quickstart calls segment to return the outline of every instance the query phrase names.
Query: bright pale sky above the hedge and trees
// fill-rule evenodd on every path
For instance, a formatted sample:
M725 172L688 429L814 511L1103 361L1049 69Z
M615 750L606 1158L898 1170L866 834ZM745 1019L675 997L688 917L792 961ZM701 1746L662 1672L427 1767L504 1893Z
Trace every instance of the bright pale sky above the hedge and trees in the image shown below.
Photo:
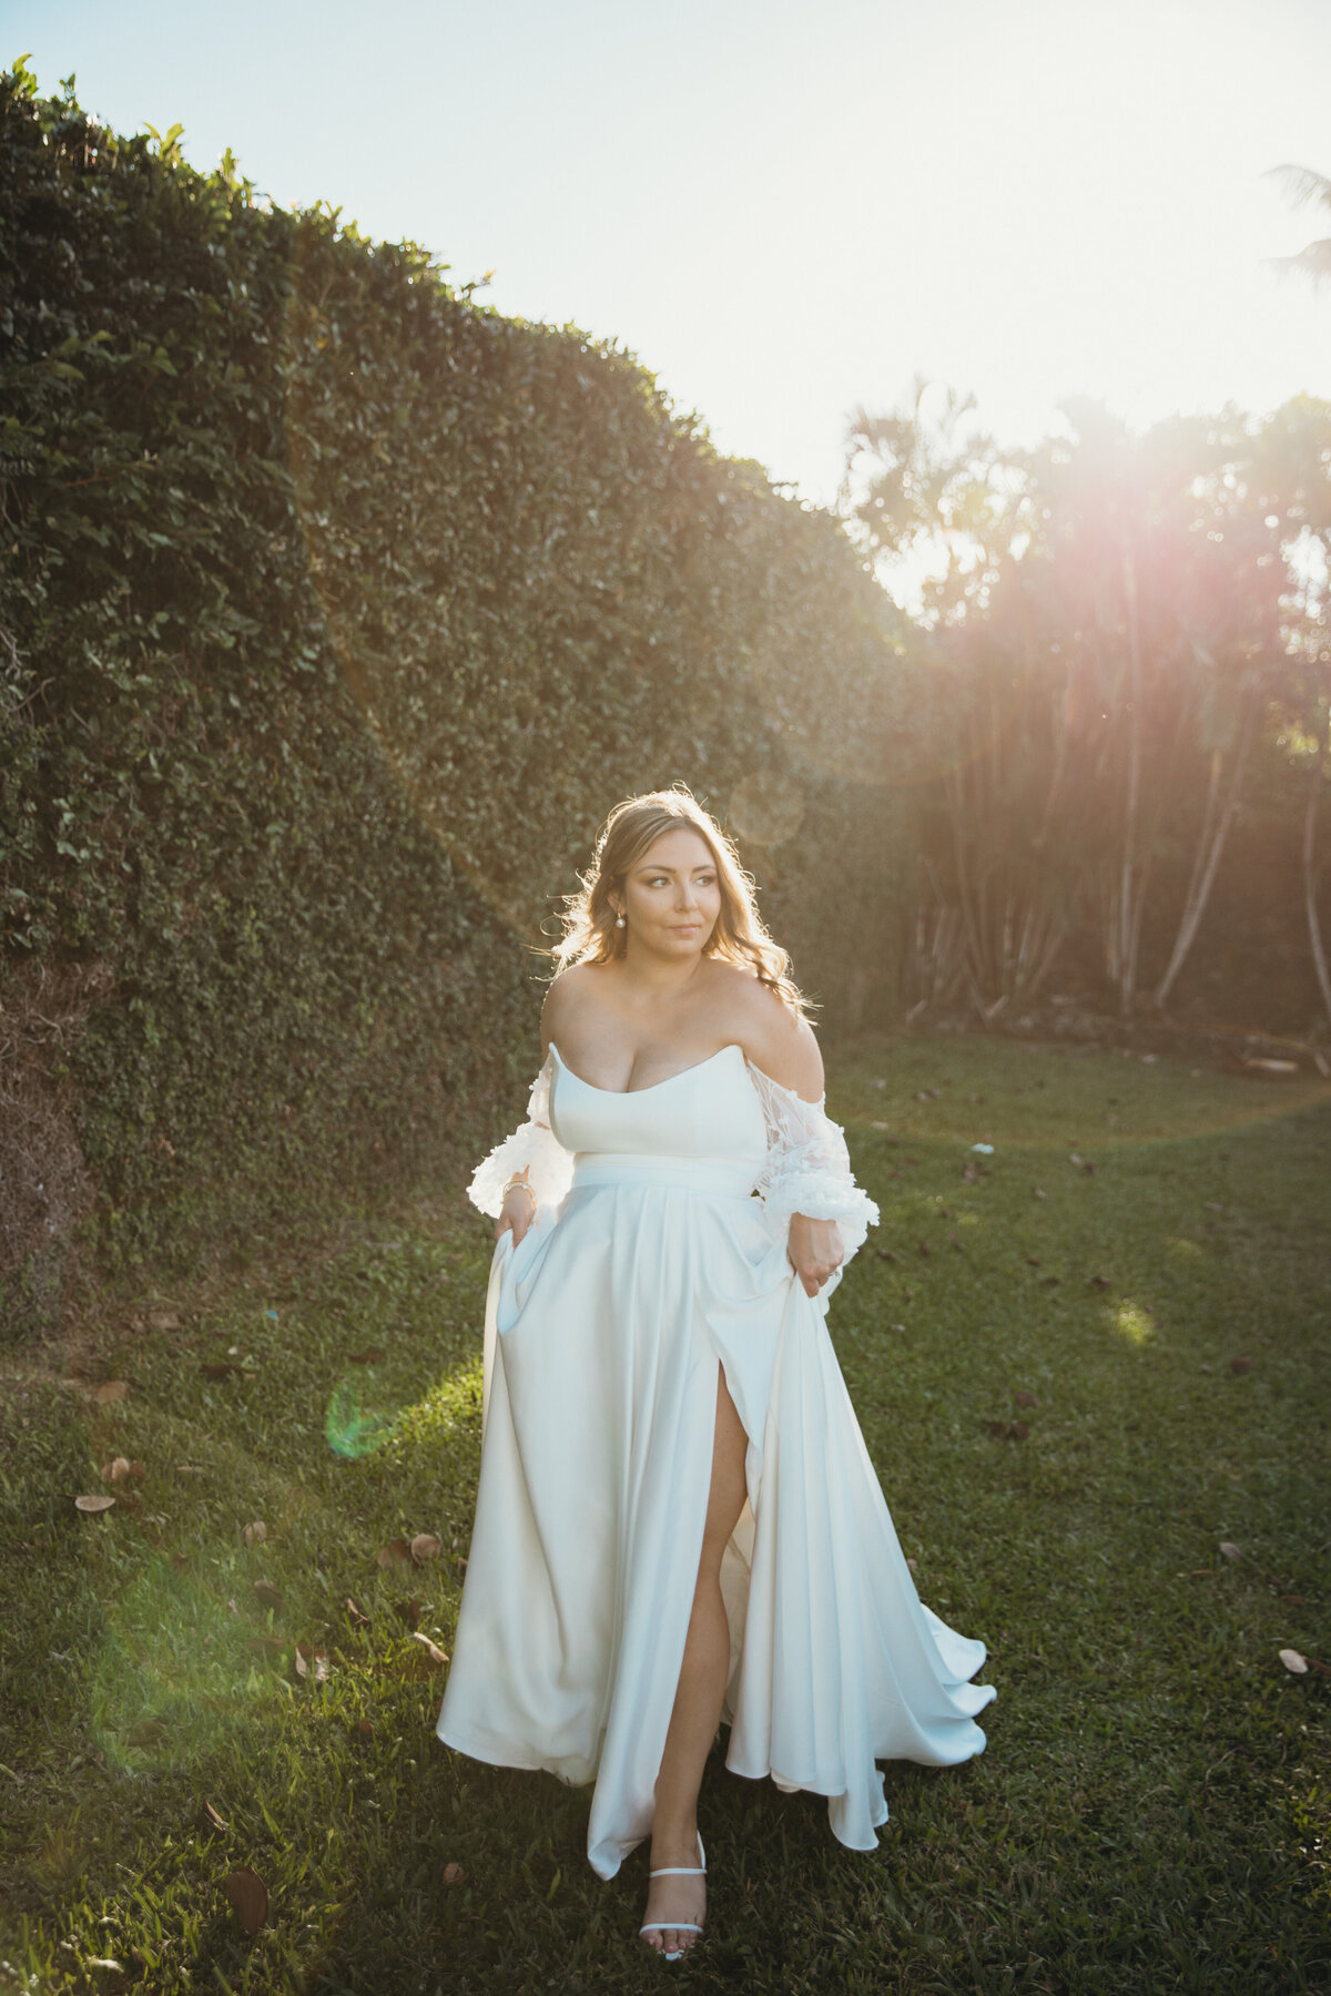
M830 505L916 375L1004 443L1092 395L1331 399L1331 0L0 0L0 64L629 347Z

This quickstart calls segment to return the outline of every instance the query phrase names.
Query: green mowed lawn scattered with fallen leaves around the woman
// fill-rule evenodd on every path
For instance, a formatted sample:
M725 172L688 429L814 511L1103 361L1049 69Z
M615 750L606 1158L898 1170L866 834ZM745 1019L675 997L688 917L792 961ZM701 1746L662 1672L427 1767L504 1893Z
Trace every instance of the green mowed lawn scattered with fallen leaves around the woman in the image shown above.
M922 1599L990 1647L988 1750L888 1764L868 1854L714 1754L708 1936L665 1966L589 1790L439 1745L459 1180L108 1295L82 1377L10 1347L0 1988L1331 1990L1331 1090L900 1038L828 1098L882 1206L830 1325Z

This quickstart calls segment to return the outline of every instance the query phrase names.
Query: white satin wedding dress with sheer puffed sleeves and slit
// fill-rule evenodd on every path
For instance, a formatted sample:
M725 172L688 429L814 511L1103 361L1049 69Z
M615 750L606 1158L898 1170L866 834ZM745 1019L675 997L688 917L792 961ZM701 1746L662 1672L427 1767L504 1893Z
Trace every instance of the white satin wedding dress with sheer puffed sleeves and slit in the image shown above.
M826 1098L824 1098L826 1100ZM497 1216L531 1166L539 1210L495 1244L481 1481L437 1733L501 1766L595 1780L603 1878L651 1834L706 1517L716 1367L748 1501L722 1563L726 1766L826 1794L872 1850L876 1758L984 1750L986 1647L920 1601L826 1331L786 1257L796 1212L846 1259L878 1210L838 1124L722 1046L655 1088L581 1080L551 1046L529 1116L481 1164Z

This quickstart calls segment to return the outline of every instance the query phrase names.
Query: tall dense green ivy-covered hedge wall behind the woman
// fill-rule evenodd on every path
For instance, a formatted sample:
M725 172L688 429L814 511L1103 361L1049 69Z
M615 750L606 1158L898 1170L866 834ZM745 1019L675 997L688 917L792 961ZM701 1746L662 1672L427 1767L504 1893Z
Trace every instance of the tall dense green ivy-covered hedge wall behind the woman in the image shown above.
M892 1004L908 677L832 519L613 345L22 70L0 269L0 1004L96 972L114 1257L507 1120L635 788L728 818L826 1026Z

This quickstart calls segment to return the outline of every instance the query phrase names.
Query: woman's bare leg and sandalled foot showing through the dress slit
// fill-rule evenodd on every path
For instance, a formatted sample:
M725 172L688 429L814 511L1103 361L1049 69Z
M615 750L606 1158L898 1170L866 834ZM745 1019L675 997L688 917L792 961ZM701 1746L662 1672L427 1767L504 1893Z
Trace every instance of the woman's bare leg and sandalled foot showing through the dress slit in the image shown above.
M720 1555L744 1509L744 1453L748 1437L736 1413L726 1377L716 1365L716 1427L712 1433L712 1487L706 1501L702 1557L688 1617L684 1661L678 1673L670 1731L666 1733L657 1810L653 1816L653 1870L661 1864L698 1862L698 1788L702 1766L716 1739L720 1701L730 1675L730 1625L720 1597ZM653 1878L645 1920L694 1920L702 1924L706 1884L702 1878ZM674 1954L698 1936L663 1928L643 1936L661 1952Z

